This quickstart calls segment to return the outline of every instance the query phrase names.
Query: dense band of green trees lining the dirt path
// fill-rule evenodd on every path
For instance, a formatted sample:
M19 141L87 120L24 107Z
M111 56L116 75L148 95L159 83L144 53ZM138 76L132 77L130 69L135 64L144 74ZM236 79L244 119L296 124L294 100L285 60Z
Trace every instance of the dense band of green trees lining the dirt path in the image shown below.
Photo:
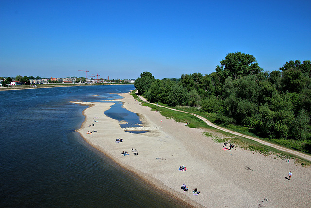
M216 123L249 127L265 138L311 139L311 61L286 62L264 72L253 55L230 53L210 75L155 79L144 72L135 81L150 102L187 105L217 114Z

